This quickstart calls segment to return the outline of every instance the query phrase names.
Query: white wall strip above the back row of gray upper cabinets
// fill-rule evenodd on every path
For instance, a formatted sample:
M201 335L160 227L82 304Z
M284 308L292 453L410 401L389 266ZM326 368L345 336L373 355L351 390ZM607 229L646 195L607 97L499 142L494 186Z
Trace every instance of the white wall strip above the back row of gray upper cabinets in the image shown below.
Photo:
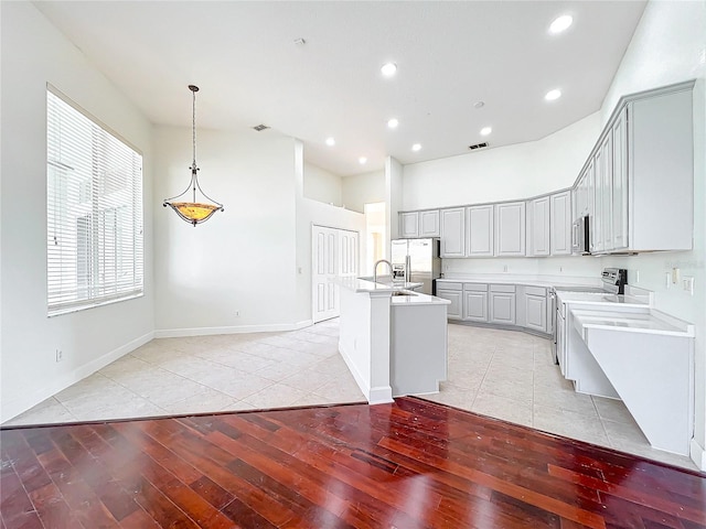
M538 141L405 165L402 208L528 198L569 187L599 132L597 112Z

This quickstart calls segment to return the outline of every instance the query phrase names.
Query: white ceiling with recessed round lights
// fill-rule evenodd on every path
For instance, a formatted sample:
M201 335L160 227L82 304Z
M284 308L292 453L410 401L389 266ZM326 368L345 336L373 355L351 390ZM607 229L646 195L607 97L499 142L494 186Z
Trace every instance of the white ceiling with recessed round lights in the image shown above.
M388 154L408 164L536 140L597 111L645 2L35 4L152 122L190 127L195 84L199 128L265 123L301 139L308 162L351 175ZM574 24L550 35L564 13ZM388 61L394 78L379 72ZM547 102L553 88L564 95Z

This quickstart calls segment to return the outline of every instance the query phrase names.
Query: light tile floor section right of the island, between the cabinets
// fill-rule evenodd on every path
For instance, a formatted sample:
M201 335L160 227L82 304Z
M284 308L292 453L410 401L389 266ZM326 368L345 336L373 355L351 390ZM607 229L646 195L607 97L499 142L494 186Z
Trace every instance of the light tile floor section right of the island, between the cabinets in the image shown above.
M548 339L450 324L448 374L439 393L421 397L697 469L688 457L652 449L621 401L574 391L554 365Z

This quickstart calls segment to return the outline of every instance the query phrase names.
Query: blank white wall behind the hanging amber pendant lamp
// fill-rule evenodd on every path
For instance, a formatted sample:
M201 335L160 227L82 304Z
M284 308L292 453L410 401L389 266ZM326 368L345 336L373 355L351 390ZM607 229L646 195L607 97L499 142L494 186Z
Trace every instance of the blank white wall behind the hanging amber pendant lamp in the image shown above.
M295 140L199 130L197 143L201 187L225 212L196 227L156 212L157 332L287 328L296 320ZM159 199L183 191L191 130L156 127L154 158Z

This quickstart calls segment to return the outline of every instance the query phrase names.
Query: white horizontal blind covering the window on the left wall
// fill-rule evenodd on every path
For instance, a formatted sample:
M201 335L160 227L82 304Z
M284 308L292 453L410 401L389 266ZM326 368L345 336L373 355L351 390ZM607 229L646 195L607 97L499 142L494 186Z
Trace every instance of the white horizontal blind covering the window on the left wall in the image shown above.
M46 91L49 315L142 294L142 155Z

